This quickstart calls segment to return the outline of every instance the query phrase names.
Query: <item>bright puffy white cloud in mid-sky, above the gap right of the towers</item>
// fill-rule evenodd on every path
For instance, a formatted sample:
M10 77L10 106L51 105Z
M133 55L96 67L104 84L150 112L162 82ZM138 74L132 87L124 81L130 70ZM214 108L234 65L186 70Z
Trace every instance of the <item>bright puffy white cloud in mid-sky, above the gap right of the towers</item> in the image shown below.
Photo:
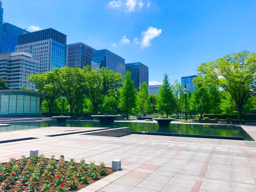
M138 40L137 37L134 38L134 41L135 43L140 44L141 49L144 47L149 47L151 45L151 41L155 37L160 36L161 33L162 33L162 29L149 27L147 31L141 32L142 39L140 39L140 41Z

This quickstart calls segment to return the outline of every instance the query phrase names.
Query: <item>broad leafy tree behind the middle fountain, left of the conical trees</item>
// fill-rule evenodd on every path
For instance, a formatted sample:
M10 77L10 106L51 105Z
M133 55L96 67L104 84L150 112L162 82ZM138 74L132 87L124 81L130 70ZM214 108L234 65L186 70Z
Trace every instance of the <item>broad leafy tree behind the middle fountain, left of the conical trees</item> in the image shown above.
M95 113L98 114L98 107L103 102L108 91L122 86L124 77L120 73L113 72L107 68L101 68L100 72L91 69L89 66L82 70L84 81L81 84L84 94L92 101Z

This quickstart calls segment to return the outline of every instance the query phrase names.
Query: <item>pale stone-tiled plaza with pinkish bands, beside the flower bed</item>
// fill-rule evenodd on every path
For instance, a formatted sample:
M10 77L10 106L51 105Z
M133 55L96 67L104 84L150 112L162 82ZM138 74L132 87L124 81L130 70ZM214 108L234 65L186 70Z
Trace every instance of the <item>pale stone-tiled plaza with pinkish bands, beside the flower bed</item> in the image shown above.
M253 131L255 128L250 126L248 129ZM84 158L87 163L104 162L108 167L112 160L122 160L121 171L81 192L256 191L255 141L137 134L115 138L82 134L2 143L0 161L29 156L30 149L38 149L46 157L55 155L58 158L63 154L67 160Z

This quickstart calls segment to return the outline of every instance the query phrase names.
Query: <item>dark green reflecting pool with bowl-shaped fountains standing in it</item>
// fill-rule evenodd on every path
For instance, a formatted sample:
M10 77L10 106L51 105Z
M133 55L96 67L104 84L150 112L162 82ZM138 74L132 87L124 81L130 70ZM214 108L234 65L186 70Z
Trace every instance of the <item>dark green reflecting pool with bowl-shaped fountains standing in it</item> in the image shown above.
M252 140L244 130L239 126L232 125L207 125L207 124L174 124L171 123L169 128L159 128L157 123L138 123L138 122L114 122L113 126L101 126L98 121L67 121L66 124L58 124L57 121L42 122L17 122L9 127L0 127L0 132L17 131L25 129L36 129L50 126L66 127L130 127L135 132L155 132L155 133L172 133L185 135L210 135L222 137L238 137L244 140Z

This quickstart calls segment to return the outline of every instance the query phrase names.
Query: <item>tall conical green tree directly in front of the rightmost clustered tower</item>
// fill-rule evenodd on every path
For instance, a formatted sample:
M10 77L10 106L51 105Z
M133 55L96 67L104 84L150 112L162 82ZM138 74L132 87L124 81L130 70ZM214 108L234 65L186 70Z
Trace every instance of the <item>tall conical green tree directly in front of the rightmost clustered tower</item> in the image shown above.
M136 92L137 91L134 88L134 82L131 79L131 72L126 71L124 86L121 89L121 97L118 106L126 113L127 119L129 119L129 112L132 112L132 108L135 107Z

